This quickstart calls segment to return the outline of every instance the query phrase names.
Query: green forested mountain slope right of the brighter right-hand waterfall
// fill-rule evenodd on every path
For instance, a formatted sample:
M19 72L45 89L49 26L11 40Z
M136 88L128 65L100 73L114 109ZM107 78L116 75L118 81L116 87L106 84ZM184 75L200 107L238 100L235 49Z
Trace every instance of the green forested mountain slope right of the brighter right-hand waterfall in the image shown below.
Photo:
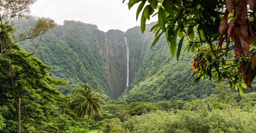
M130 77L133 82L118 100L154 102L208 97L215 84L209 80L192 84L191 55L181 54L177 62L176 56L172 58L170 55L165 36L150 50L154 41L152 32L149 32L152 26L147 25L143 35L137 35L140 33L139 26L125 33L131 49Z

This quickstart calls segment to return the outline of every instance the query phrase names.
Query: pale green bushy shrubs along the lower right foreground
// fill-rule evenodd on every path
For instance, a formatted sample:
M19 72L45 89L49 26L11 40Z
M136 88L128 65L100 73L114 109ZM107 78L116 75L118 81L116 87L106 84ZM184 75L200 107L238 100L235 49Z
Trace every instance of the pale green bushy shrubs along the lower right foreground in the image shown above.
M109 126L126 129L131 133L254 133L256 107L226 107L211 111L207 107L200 107L196 111L179 110L176 114L157 110L132 116L125 122L110 123ZM111 132L111 128L108 129ZM106 130L103 132L108 133Z

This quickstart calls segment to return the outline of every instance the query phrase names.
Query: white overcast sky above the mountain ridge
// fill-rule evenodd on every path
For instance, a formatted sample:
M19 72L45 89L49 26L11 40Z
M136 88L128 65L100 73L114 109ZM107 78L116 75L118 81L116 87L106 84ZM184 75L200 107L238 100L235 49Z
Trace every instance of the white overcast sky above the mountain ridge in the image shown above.
M31 15L52 18L63 25L64 20L75 20L95 24L100 30L110 29L126 31L140 26L140 16L136 22L138 4L129 11L128 1L123 0L37 0L31 6ZM157 16L147 23L157 20Z

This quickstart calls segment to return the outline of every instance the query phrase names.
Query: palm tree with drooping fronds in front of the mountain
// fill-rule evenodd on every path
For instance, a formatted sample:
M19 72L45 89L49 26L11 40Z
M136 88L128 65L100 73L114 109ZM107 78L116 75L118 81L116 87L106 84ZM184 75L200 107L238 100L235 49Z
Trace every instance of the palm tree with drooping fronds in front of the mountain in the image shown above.
M81 121L84 115L88 115L87 129L89 127L89 119L94 117L94 114L101 115L101 106L99 102L104 102L102 98L107 97L106 95L100 94L102 92L100 88L93 90L87 83L82 85L82 88L73 89L70 93L74 96L74 101L69 106Z

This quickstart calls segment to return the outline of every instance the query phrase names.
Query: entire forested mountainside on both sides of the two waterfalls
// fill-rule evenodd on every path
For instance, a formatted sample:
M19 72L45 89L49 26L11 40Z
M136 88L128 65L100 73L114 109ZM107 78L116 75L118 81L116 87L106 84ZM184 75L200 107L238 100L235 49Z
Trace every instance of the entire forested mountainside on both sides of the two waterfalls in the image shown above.
M28 30L36 19L38 18L15 20L15 25L20 27L18 32ZM104 33L96 25L65 20L64 25L56 26L42 36L36 48L42 54L33 56L52 66L52 70L48 70L52 78L68 83L66 86L59 86L59 91L63 94L89 83L93 88L102 88L110 99L116 99L117 96L117 100L128 103L194 100L210 96L216 87L215 83L205 79L192 84L192 70L189 67L191 52L186 55L185 51L177 62L176 56L172 58L170 55L164 35L150 49L154 35L149 30L153 25L154 23L146 25L143 35L140 26L128 29L125 33L119 30ZM129 47L128 88L127 48L124 37ZM19 45L25 51L31 52L38 42L39 38L22 41ZM252 88L254 89L248 89L247 92L255 90L255 85Z

